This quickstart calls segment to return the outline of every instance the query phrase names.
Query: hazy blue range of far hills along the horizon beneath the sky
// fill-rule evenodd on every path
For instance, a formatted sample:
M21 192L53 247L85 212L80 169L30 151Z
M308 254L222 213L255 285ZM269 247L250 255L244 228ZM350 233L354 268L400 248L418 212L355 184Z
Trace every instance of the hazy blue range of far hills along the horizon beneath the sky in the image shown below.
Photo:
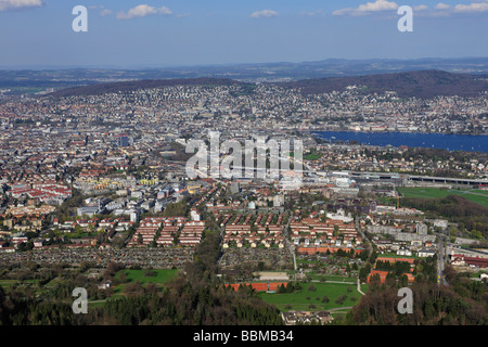
M197 66L0 66L0 89L3 94L43 93L50 89L93 86L100 83L162 79L232 79L242 82L288 82L305 79L442 70L454 74L487 75L486 57L398 59L325 59L313 62L270 62ZM7 92L5 92L7 90ZM90 91L91 93L92 91Z

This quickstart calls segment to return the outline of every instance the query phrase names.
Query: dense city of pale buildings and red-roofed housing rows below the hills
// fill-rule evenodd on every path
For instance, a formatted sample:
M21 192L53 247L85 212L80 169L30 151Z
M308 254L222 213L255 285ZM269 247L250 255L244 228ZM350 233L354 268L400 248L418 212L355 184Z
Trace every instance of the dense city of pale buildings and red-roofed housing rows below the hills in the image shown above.
M486 134L487 116L486 91L400 99L350 86L307 95L210 79L93 95L5 93L0 283L37 298L68 295L73 283L89 288L89 311L97 303L108 310L111 300L201 277L188 267L210 247L211 264L200 265L213 273L210 287L249 288L270 316L222 321L202 312L196 324L485 324L487 154L330 141L317 131ZM188 144L208 142L209 131L241 143L303 141L303 162L291 157L303 165L300 184L281 185L292 170L189 178ZM219 163L229 155L220 151ZM358 318L381 291L422 285L476 285L477 296L465 298L476 314L439 320L421 306L412 318L382 310ZM118 313L85 322L62 312L30 323L129 323ZM166 314L163 322L183 322Z

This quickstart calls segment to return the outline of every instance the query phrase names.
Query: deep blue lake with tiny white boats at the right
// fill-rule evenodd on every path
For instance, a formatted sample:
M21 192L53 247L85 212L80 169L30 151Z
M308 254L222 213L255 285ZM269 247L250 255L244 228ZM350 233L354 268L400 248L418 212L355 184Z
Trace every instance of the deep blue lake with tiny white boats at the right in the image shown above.
M409 147L488 153L488 136L361 131L314 131L313 134L332 142L355 140L362 144L381 146L390 144L395 147L406 145Z

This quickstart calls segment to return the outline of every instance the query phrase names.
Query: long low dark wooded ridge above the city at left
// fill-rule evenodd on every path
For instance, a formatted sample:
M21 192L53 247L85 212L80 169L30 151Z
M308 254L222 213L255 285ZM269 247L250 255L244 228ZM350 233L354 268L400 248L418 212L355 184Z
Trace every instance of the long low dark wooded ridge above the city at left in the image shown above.
M171 86L234 86L244 85L236 80L227 78L178 78L178 79L147 79L131 80L121 82L98 83L91 86L66 88L51 93L54 98L73 95L102 95L106 93L116 93L133 91L139 89L151 89Z

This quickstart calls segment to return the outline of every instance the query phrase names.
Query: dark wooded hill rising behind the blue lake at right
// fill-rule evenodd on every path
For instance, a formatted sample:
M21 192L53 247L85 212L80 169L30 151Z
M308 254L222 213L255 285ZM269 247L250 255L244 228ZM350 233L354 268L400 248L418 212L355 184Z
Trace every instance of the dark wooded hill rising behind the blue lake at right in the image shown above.
M396 91L401 98L476 97L480 92L488 91L488 74L453 74L431 69L368 76L324 77L278 85L286 88L300 88L303 94L343 91L347 86L365 86L367 93Z

